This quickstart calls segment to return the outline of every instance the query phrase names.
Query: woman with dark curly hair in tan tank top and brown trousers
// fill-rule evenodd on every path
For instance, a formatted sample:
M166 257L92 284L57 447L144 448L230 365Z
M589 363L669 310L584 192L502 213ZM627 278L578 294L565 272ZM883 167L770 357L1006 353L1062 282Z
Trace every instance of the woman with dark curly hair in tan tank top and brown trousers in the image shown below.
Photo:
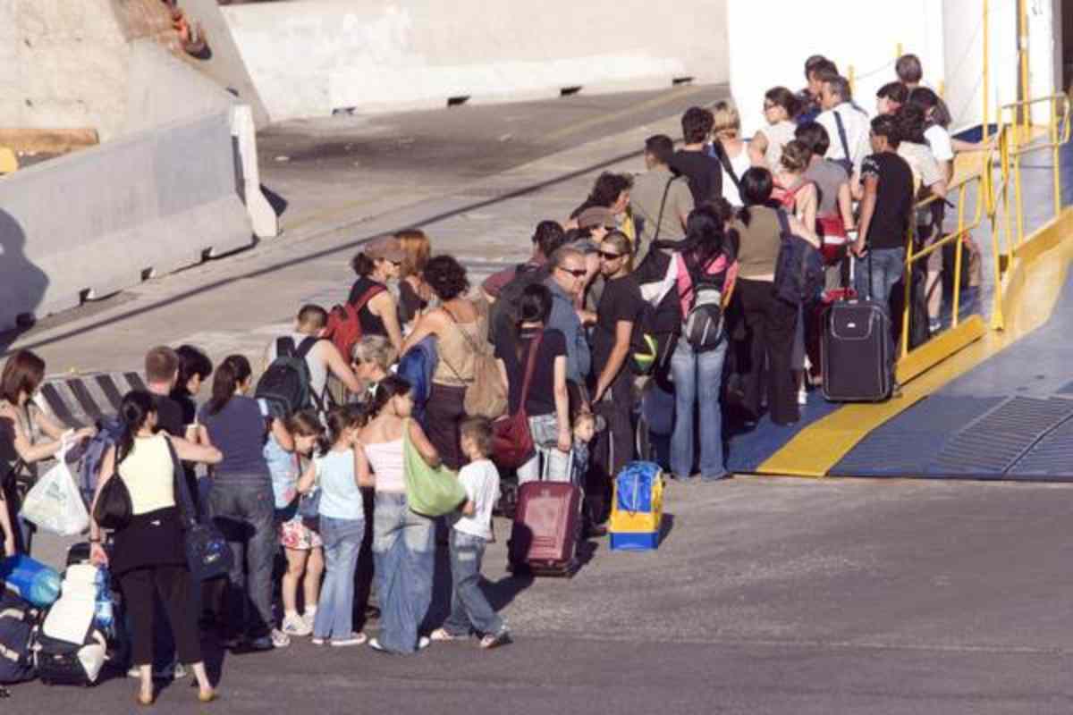
M488 307L467 298L466 269L452 256L436 256L425 266L425 282L440 299L440 308L417 319L401 354L428 336L437 339L439 360L425 405L428 440L452 470L462 465L459 428L466 419L466 386L473 382L476 352L488 343Z

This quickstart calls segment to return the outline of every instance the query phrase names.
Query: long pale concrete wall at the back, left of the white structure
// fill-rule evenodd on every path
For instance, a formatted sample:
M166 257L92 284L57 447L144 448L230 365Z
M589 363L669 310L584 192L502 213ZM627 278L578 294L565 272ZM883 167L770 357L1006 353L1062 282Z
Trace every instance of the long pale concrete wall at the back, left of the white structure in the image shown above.
M304 0L222 8L274 121L727 78L725 2Z

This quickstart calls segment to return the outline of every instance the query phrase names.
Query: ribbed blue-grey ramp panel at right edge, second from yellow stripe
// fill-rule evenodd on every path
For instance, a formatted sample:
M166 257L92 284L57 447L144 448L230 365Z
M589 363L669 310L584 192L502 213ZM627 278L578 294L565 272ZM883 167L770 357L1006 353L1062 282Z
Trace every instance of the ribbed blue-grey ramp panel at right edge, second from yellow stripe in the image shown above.
M1001 478L1041 437L1070 417L1070 400L1011 398L956 434L927 471Z

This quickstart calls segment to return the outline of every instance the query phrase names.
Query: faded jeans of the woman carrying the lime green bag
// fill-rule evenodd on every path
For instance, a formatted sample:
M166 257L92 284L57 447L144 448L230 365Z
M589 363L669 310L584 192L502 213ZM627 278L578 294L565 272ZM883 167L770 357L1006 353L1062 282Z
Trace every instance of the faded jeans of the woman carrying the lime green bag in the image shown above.
M410 510L406 494L377 492L372 516L372 558L385 651L414 653L417 628L432 602L436 562L433 522Z

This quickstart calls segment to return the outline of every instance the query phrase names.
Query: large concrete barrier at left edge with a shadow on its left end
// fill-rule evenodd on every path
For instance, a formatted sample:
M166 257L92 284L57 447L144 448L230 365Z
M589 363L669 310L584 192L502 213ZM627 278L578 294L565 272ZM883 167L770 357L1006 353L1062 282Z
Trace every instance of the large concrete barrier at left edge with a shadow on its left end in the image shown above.
M0 181L0 327L252 243L231 109Z

